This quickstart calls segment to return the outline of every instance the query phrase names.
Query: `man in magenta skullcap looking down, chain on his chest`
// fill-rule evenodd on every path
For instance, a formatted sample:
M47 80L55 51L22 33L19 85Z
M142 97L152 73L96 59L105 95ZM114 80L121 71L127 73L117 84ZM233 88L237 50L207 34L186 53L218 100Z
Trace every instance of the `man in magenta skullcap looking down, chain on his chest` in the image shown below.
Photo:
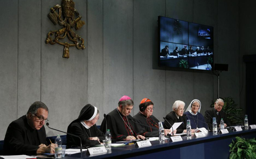
M107 129L110 130L113 142L145 138L141 135L143 130L139 130L139 127L132 121L132 116L129 115L133 105L130 97L122 96L118 102L118 107L108 113L106 118L103 119L100 130L106 132L107 122Z

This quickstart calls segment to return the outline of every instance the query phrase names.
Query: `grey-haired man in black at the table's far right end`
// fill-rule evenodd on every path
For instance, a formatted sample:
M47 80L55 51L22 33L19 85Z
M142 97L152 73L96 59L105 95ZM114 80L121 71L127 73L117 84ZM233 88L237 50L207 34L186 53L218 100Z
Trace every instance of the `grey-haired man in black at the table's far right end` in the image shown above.
M209 125L209 129L212 130L212 119L213 117L216 118L217 127L220 128L220 120L223 118L224 127L230 126L230 122L227 119L225 113L221 111L222 107L224 106L223 99L219 98L214 102L214 107L207 109L204 113L204 119L206 123Z

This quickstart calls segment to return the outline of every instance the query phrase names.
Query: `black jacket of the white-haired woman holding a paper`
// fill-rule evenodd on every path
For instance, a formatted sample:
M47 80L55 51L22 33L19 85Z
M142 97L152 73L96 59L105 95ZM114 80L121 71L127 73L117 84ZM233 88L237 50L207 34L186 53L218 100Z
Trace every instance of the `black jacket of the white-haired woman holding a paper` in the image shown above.
M179 123L179 122L183 122L178 128L177 128L177 132L176 133L182 133L184 130L186 130L186 126L187 126L187 118L183 115L182 117L179 117L179 119L176 117L175 112L171 111L169 114L166 115L165 119L170 123L170 124L174 124L174 123ZM171 126L170 124L165 120L165 125L164 128L165 129L170 129Z

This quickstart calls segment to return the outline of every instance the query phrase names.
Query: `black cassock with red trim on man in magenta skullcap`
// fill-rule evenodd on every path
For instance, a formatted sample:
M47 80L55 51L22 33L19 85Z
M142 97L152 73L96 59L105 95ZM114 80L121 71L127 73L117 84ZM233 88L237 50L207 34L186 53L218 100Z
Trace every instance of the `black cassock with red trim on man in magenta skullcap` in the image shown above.
M112 142L123 141L127 136L137 136L143 133L139 132L139 128L132 120L132 116L123 116L121 112L116 109L106 115L107 129L111 133ZM103 119L100 130L106 132L106 119ZM128 119L128 121L127 121Z

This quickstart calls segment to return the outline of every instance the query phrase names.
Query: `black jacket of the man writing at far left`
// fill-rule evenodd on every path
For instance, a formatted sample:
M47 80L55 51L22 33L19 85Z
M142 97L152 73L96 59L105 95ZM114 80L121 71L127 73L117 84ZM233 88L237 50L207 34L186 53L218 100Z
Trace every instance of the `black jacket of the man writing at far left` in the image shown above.
M26 115L13 121L7 128L4 138L5 155L36 155L38 145L33 145L30 138L30 129ZM35 130L38 136L38 143L47 145L45 127Z

